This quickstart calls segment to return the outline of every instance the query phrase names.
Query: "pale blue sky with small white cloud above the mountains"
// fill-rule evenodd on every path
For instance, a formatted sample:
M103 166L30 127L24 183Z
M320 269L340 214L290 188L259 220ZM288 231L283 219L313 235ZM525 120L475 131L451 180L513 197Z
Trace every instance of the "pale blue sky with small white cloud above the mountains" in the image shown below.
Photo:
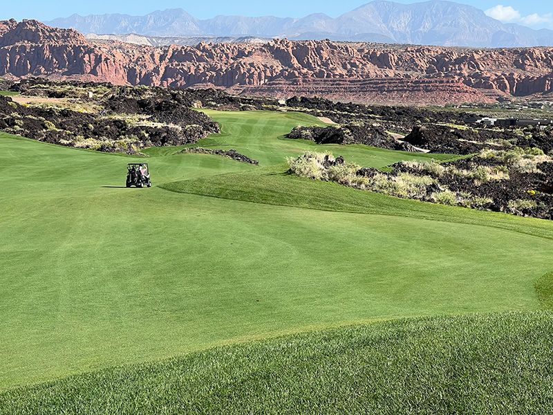
M396 0L397 3L416 3L412 0ZM21 19L50 20L55 17L104 13L124 13L128 15L146 15L154 10L183 8L198 19L208 19L216 15L245 15L279 17L304 17L310 13L323 12L337 17L344 12L362 6L364 0L209 0L209 1L107 1L95 0L77 2L75 0L26 0L3 1L0 19L14 17ZM487 10L487 14L501 21L523 24L532 28L553 29L553 2L549 0L462 0L471 6Z

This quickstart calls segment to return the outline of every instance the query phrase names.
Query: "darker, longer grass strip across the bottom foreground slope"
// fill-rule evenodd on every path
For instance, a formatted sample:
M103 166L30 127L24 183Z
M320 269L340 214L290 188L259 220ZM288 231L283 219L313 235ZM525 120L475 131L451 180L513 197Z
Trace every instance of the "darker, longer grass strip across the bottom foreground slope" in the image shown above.
M548 414L551 313L379 322L82 374L0 414Z

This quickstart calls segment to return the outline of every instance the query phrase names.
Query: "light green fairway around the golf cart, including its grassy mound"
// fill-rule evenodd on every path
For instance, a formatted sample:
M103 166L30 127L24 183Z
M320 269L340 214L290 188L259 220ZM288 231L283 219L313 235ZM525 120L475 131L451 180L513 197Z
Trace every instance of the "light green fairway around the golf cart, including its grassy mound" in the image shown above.
M292 178L281 163L306 149L366 167L438 156L283 138L317 122L304 114L210 114L223 133L198 146L268 169L0 133L0 387L310 328L540 308L552 223ZM154 187L124 188L144 160Z

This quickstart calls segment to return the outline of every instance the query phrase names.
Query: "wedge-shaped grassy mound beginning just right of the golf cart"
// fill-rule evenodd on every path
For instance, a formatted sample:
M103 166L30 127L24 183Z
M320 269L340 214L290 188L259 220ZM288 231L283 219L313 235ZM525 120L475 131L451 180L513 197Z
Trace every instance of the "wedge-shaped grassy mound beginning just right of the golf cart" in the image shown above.
M288 174L288 165L200 177L161 185L171 192L200 194L269 205L337 212L409 216L436 221L486 225L553 239L553 222L503 213L480 212L355 190L337 183Z

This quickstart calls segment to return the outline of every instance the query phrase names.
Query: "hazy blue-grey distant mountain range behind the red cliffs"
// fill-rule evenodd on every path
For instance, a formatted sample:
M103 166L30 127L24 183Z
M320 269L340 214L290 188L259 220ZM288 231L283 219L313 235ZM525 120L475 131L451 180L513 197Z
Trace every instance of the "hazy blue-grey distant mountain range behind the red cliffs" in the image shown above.
M81 33L169 37L279 37L437 46L553 46L553 30L503 24L472 6L432 0L372 1L336 18L323 13L291 17L217 16L200 20L180 8L145 16L72 15L46 21Z

